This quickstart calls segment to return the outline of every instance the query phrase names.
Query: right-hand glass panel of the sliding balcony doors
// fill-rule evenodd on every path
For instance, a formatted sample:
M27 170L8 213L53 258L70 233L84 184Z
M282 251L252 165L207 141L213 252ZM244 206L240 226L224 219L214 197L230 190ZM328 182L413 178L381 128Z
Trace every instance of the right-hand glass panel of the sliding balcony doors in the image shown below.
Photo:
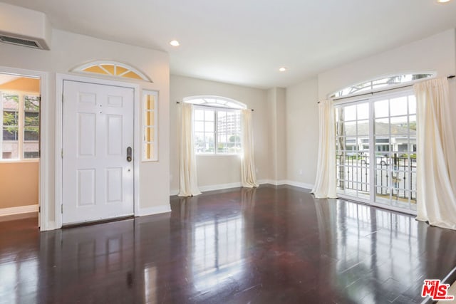
M416 210L415 96L374 102L375 203Z

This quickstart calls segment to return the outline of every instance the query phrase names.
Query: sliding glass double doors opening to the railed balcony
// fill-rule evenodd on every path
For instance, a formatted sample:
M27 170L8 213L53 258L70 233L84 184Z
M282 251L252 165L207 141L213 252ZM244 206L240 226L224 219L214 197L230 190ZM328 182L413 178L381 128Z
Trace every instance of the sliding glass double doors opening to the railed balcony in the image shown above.
M338 194L416 213L416 123L410 91L336 105Z

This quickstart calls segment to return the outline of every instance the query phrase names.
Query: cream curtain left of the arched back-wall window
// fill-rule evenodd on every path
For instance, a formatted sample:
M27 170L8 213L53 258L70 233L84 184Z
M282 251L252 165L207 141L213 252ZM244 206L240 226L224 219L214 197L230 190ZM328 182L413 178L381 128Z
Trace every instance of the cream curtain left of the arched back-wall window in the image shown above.
M179 196L201 194L198 189L197 161L193 145L193 105L180 103L180 189Z

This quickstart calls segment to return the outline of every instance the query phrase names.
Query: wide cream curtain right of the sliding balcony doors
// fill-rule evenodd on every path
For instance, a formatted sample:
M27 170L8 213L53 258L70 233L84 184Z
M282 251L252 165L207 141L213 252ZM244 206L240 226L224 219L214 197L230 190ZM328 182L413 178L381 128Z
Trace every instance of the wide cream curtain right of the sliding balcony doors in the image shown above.
M417 219L456 229L456 147L447 78L417 83Z

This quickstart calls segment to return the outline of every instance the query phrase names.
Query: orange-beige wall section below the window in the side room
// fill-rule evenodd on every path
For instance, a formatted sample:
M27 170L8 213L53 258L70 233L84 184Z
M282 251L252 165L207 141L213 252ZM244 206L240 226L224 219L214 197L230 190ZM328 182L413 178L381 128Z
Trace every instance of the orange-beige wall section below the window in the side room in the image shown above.
M38 162L0 163L0 209L38 204Z

